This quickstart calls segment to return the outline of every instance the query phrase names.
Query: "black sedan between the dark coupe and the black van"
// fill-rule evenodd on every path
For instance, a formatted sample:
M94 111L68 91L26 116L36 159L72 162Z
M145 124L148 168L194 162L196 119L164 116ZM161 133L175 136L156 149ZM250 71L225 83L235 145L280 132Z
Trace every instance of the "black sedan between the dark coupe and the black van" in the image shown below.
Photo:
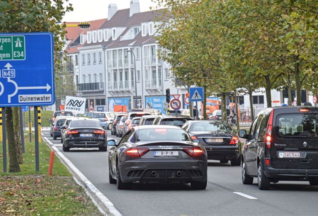
M191 120L182 125L192 139L202 144L208 159L238 166L241 162L241 143L232 127L220 120Z

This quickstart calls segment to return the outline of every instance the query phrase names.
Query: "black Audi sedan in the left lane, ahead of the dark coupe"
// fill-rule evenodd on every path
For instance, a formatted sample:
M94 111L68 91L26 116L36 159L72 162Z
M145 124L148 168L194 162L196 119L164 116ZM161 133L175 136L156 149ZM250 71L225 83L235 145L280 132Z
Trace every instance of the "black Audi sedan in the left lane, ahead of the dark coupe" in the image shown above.
M101 127L98 119L72 119L64 131L63 151L69 151L69 148L73 147L98 147L100 151L106 151L107 134L105 129Z

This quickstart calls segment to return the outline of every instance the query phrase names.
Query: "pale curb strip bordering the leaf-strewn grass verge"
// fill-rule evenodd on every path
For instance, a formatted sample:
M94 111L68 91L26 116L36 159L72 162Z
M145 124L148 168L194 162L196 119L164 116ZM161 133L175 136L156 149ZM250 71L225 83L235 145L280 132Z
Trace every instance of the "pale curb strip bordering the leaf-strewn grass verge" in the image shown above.
M109 216L122 216L117 208L111 203L111 201L104 196L73 164L67 159L45 136L42 136L45 143L51 148L56 156L62 161L62 163L68 168L70 173L73 175L74 180L86 191L92 202L96 205L98 210L103 215Z

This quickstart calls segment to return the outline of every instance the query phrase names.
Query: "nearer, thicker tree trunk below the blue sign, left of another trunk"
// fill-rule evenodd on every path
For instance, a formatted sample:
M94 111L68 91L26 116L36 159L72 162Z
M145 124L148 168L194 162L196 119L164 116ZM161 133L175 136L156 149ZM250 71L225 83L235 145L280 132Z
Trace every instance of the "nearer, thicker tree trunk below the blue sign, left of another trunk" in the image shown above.
M7 137L7 146L9 152L9 172L19 172L21 171L19 162L17 159L16 151L16 142L14 137L14 128L13 128L13 116L12 108L5 108L5 125L6 125L6 137Z

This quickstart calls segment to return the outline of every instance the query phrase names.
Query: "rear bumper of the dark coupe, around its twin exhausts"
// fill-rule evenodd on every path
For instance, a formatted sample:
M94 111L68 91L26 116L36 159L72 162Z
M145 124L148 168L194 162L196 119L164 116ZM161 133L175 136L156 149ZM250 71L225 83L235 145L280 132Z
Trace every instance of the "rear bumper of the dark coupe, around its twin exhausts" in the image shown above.
M137 159L120 162L122 182L203 182L206 179L207 161L195 159L149 160ZM155 171L155 175L151 172ZM176 172L181 171L177 176Z

